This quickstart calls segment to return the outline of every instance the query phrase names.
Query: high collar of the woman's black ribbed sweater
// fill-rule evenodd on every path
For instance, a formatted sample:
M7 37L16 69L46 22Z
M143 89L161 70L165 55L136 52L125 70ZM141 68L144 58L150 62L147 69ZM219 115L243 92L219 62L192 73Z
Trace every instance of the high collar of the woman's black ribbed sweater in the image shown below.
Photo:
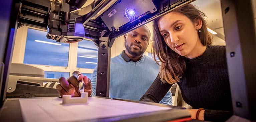
M191 64L200 64L200 63L203 63L205 61L208 61L209 59L211 59L211 57L216 52L216 48L214 48L214 47L216 47L216 46L208 45L206 47L205 52L202 55L200 55L200 56L198 56L196 58L192 58L192 59L185 58L185 61L187 63L191 63Z

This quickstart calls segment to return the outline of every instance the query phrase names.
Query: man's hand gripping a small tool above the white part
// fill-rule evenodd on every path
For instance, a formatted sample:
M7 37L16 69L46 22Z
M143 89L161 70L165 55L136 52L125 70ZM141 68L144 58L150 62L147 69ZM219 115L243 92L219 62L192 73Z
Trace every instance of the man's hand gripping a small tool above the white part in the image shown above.
M80 80L83 79L84 81L84 92L88 92L88 96L91 95L91 80L87 76L79 75L78 78L76 78L77 74L79 74L79 71L74 71L72 76L67 78L67 80L64 77L59 78L59 83L56 86L57 91L59 92L59 95L71 95L73 96L80 96L80 92L78 90L78 83Z

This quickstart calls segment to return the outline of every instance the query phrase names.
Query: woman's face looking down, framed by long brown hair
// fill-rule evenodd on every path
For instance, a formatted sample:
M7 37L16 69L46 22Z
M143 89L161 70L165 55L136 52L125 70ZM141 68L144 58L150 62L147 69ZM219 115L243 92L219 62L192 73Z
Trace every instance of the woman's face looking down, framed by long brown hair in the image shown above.
M197 34L202 27L200 19L193 23L187 16L171 12L159 19L158 27L166 44L182 56L193 57L203 46Z

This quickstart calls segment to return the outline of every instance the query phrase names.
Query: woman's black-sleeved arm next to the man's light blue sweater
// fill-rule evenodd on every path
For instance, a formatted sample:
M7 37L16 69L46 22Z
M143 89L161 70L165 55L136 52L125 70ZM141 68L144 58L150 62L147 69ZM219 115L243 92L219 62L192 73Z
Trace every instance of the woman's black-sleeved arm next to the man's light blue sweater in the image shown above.
M159 75L152 83L148 91L141 97L140 101L157 102L161 101L172 85L163 83Z

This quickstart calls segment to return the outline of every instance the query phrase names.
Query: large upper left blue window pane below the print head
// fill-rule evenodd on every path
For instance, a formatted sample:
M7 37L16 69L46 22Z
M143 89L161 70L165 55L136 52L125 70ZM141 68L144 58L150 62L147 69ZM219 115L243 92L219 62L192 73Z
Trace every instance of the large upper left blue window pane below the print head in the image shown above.
M24 63L67 67L68 53L68 43L46 38L46 31L28 29Z

